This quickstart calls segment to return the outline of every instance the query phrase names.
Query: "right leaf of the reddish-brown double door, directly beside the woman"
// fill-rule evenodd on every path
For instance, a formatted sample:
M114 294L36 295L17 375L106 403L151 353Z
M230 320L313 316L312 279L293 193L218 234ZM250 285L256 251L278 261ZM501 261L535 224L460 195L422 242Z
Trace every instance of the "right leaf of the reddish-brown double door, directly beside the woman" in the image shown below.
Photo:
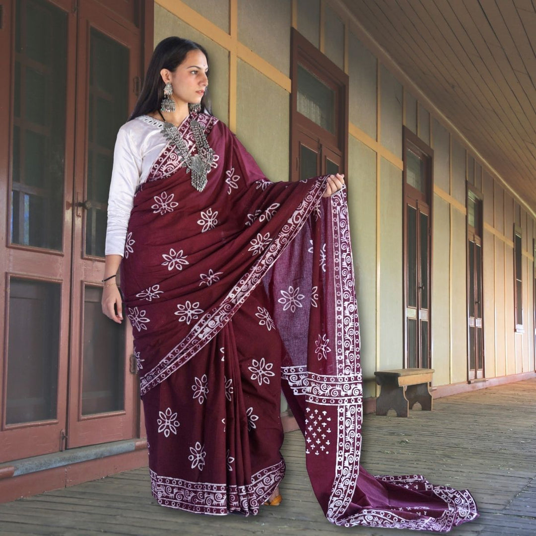
M110 322L100 300L115 135L136 101L139 34L86 1L78 42L69 448L133 437L137 392L130 325Z

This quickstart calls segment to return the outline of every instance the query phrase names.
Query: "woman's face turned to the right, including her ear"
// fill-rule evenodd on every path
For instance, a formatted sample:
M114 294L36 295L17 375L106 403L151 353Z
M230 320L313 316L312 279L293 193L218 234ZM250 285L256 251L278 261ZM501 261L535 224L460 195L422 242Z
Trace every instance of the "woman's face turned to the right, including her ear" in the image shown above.
M173 99L180 106L182 103L201 102L209 85L208 71L209 65L202 51L190 50L174 72L162 69L160 73L165 83L171 82Z

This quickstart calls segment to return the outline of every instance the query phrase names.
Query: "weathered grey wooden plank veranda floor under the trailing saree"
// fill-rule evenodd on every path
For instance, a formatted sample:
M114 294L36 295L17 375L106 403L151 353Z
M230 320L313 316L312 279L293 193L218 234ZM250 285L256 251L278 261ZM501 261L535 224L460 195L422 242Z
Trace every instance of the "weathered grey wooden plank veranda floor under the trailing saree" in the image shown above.
M536 534L536 379L434 401L410 418L365 418L362 463L373 474L424 474L469 488L481 517L456 536ZM326 521L307 478L300 432L283 453L284 502L256 517L196 516L159 507L147 468L0 504L0 534L135 536L256 534L394 536L413 531L343 528Z

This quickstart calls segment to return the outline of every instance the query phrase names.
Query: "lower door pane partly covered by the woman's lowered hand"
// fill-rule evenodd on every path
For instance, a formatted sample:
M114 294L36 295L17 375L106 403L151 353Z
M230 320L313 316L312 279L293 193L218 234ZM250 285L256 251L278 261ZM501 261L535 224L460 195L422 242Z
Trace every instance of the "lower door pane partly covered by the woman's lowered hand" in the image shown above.
M85 287L83 415L124 409L124 325L102 314L101 297L101 288Z

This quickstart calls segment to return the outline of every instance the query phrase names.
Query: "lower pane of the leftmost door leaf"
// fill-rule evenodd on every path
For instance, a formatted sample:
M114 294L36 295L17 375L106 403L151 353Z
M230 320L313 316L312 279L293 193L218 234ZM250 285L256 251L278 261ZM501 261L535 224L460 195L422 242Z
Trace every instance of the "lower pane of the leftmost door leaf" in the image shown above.
M58 283L10 279L8 425L56 419L60 290Z

